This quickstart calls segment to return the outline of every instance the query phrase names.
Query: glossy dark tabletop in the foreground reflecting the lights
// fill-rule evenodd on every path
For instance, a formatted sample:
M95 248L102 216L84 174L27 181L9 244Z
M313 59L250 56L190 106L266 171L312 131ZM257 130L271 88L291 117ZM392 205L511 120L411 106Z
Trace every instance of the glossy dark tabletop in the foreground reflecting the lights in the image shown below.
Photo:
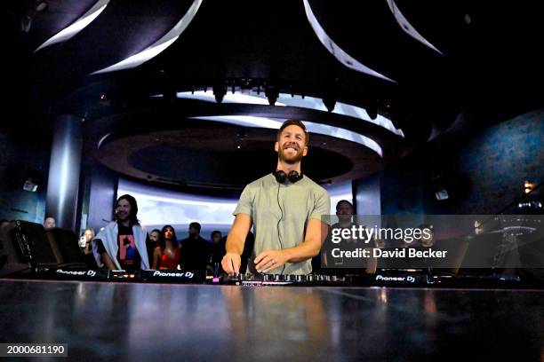
M0 342L74 360L544 359L541 290L4 279L0 298Z

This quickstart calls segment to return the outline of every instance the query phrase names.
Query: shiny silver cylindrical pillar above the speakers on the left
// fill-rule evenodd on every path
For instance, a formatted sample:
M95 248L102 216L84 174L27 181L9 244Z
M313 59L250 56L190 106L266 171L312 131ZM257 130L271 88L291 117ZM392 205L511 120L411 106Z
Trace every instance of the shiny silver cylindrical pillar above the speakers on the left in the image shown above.
M55 217L57 227L76 227L82 148L81 119L72 114L59 115L53 122L45 206L45 214Z

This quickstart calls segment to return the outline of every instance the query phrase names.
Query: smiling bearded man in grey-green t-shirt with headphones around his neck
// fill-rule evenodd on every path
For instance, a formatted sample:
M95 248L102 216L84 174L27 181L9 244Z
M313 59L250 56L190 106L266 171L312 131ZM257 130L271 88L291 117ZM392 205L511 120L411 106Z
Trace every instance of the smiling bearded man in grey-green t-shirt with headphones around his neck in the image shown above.
M252 273L308 274L311 258L327 235L328 224L321 216L331 212L331 199L300 171L300 161L308 153L304 124L284 122L274 149L276 171L247 185L233 213L236 218L221 261L229 274L240 271L244 240L252 226L255 246L248 265Z

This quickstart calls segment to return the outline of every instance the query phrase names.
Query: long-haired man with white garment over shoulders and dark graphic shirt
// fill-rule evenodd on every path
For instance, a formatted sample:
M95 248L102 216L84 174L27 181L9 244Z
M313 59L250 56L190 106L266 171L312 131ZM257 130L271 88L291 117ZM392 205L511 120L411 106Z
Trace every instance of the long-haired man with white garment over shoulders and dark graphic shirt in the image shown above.
M116 221L107 224L93 240L93 251L109 270L149 269L148 233L138 221L138 204L131 195L116 202Z

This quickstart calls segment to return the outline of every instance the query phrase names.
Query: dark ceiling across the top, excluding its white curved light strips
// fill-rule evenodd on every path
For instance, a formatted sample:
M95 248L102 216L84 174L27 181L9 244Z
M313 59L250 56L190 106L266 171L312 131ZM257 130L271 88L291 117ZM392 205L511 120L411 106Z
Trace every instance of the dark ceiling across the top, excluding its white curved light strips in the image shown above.
M468 126L477 131L542 105L541 91L536 90L544 80L544 59L538 46L544 27L533 2L396 0L420 35L442 51L439 54L402 30L386 0L308 1L334 43L396 83L357 72L335 59L308 22L302 0L204 0L194 20L170 47L140 67L103 75L91 74L146 49L188 12L193 1L110 1L80 33L34 52L96 1L50 0L42 12L36 11L38 3L18 1L8 6L11 52L7 84L12 90L8 103L46 129L55 114L81 116L90 150L97 139L115 130L116 138L104 145L108 148L94 154L108 167L132 177L239 187L253 174L274 166L252 167L246 174L247 167L227 166L239 153L250 164L261 158L273 161L274 154L268 150L274 132L251 130L251 137L270 138L270 147L266 138L249 137L242 152L232 148L239 127L204 128L220 137L194 143L198 125L187 118L195 115L298 116L360 132L384 148L380 159L352 142L316 138L310 145L316 152L305 167L321 182L336 182L382 169L388 161L424 144L432 130L447 130L460 113L474 114ZM172 96L175 91L212 89L214 85L230 90L244 82L253 90L268 87L375 108L390 117L405 138L369 122L326 112L212 105ZM164 94L164 98L160 102L150 99L154 94ZM156 145L156 132L168 130L172 137ZM129 146L134 144L141 146ZM170 158L164 158L168 154ZM190 161L194 158L201 161ZM318 161L321 159L326 162ZM179 163L210 169L166 166ZM322 169L324 163L327 169Z

